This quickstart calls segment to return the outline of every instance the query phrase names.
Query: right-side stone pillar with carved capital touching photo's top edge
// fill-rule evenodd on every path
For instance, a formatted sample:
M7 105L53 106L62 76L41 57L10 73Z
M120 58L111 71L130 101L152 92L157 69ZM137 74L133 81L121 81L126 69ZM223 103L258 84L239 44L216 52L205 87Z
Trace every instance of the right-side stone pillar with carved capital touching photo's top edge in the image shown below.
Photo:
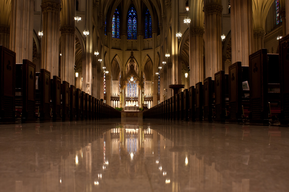
M222 70L222 10L218 0L204 1L205 10L205 49L206 49L206 77L212 77ZM205 3L206 2L206 3Z

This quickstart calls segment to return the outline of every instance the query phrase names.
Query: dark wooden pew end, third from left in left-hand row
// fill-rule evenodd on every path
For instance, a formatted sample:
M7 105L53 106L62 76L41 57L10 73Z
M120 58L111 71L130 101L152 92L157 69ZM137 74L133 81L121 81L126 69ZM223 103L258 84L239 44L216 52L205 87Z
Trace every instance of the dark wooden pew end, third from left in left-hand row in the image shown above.
M50 106L50 72L45 69L40 69L39 76L39 90L40 90L40 121L50 121L52 108Z

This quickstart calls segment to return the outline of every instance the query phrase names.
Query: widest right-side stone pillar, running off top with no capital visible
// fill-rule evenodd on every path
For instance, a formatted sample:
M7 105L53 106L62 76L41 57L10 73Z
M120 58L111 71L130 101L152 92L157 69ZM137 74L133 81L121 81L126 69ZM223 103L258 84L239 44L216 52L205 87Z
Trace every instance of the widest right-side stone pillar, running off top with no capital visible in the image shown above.
M252 0L231 0L232 63L249 66L252 53Z

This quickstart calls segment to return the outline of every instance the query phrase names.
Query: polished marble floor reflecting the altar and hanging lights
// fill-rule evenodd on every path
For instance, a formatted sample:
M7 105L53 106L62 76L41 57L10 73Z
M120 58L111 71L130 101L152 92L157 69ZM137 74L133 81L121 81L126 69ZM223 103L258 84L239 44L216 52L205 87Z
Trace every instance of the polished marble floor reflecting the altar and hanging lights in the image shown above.
M0 191L289 191L288 127L162 120L0 125Z

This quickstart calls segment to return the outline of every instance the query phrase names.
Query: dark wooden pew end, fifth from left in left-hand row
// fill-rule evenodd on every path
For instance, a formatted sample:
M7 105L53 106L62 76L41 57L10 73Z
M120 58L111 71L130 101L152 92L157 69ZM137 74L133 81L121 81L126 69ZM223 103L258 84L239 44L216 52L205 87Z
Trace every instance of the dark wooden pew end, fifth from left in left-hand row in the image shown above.
M62 121L69 121L69 83L62 81Z

